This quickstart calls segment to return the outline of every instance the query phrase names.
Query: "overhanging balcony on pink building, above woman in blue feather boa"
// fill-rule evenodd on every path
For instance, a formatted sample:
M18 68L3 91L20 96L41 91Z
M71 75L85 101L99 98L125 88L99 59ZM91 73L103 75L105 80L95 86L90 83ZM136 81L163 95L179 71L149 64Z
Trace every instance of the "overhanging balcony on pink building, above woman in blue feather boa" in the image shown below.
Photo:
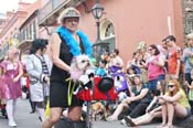
M50 0L39 13L39 25L50 26L56 23L60 12L66 7L76 7L85 0Z

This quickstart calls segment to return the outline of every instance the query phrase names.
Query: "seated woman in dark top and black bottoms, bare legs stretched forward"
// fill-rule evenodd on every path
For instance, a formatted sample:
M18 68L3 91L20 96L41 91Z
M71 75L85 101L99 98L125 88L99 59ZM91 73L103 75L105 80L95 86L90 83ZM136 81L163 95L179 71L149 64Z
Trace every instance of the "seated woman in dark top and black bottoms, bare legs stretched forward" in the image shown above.
M135 85L131 89L131 96L127 97L118 105L115 113L107 118L108 121L118 120L118 116L121 114L124 108L129 108L131 110L129 114L131 118L136 118L146 113L146 108L151 99L149 89L142 84L140 75L135 75L133 82Z

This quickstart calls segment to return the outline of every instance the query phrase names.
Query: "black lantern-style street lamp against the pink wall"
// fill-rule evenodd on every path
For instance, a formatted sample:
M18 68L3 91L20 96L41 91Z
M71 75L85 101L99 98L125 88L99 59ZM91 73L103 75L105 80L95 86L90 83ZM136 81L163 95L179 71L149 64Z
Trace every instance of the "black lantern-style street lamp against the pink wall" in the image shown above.
M103 13L104 13L104 7L101 7L99 4L99 0L95 0L95 4L94 7L92 8L92 13L93 13L93 17L96 19L96 25L97 25L97 42L100 41L100 30L99 30L99 26L100 26L100 18L103 17Z

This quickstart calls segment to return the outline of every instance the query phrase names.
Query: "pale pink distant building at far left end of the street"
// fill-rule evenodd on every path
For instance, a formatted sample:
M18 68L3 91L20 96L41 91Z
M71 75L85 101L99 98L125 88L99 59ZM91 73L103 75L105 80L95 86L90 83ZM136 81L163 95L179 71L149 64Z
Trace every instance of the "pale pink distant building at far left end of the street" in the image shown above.
M20 7L28 6L25 3L19 3ZM19 8L17 12L7 12L6 22L1 25L0 39L1 51L0 60L2 60L10 46L19 45L19 26L26 18L26 11L23 8Z

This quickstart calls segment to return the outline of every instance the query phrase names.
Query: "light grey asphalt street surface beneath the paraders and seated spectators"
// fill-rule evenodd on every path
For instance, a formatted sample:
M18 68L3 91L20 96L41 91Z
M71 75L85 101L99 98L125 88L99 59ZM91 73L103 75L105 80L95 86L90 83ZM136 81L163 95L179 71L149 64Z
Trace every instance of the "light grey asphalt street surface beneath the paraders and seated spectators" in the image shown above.
M36 114L30 114L30 105L26 99L19 99L17 103L15 121L17 128L41 128L41 122ZM156 128L158 124L139 126L136 128ZM0 128L10 128L8 126L8 120L0 117ZM108 122L108 121L94 121L93 128L128 128L120 125L119 121Z

